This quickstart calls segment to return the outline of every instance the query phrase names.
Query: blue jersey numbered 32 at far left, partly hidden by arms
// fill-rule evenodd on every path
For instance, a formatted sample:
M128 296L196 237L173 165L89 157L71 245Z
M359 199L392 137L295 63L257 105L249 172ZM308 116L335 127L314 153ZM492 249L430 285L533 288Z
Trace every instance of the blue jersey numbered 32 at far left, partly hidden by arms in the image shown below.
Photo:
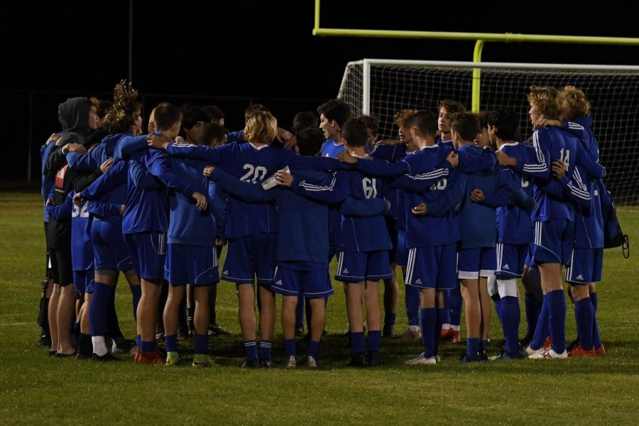
M88 201L73 204L75 191L69 192L67 199L59 206L47 206L50 217L56 220L71 218L71 263L73 271L87 271L94 266L93 244L91 243L91 217L87 212Z

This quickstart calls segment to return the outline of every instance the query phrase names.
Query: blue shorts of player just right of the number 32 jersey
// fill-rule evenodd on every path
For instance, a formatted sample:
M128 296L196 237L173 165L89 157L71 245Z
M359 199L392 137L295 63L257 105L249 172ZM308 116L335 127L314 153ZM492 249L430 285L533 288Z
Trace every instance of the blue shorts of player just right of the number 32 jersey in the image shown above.
M121 221L94 220L91 242L97 271L129 271L133 262L124 243Z

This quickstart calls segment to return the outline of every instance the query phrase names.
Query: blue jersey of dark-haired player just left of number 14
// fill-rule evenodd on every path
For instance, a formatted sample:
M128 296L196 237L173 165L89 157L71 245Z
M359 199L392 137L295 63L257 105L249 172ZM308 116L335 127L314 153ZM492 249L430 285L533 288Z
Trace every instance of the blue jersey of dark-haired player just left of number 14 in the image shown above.
M516 158L517 163L525 163L529 158L532 148L524 143L504 143L499 151L503 151L510 157ZM521 175L512 168L501 168L502 175L510 179L515 185L521 187L528 197L532 197L534 178ZM497 208L497 241L503 244L529 244L532 241L532 221L530 212L522 209L517 204L508 204Z

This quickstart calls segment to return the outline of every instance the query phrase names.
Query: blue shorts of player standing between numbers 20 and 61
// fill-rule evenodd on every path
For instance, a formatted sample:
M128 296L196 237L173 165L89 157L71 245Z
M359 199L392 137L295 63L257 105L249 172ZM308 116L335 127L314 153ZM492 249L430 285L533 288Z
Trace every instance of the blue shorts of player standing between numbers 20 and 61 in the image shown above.
M288 266L288 265L287 265ZM285 296L304 295L307 299L328 297L333 294L328 267L315 271L290 269L281 263L275 267L271 291ZM294 265L291 265L295 267Z

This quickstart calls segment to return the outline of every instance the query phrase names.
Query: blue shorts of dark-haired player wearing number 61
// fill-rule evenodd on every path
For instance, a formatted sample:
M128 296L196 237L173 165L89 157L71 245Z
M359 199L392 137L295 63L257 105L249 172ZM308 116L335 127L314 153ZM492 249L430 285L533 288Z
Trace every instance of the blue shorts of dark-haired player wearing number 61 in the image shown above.
M388 250L342 251L337 259L335 279L344 283L390 280L391 265Z

